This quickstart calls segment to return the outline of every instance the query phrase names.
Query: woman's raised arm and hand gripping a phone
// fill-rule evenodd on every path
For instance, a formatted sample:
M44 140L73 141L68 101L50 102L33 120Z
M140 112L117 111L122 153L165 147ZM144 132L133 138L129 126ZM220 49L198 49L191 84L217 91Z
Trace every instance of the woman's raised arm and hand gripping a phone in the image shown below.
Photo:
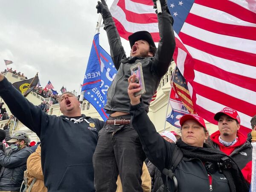
M135 81L136 76L131 77L134 77L133 81ZM131 77L128 79L128 82L130 83L128 87L128 95L131 99L130 113L132 115L132 126L140 137L140 142L146 156L151 163L162 171L163 168L169 167L175 144L167 142L157 133L153 123L145 112L142 99L140 100L140 96L134 96L134 93L140 90L140 88L137 88L140 87L140 84L131 83Z

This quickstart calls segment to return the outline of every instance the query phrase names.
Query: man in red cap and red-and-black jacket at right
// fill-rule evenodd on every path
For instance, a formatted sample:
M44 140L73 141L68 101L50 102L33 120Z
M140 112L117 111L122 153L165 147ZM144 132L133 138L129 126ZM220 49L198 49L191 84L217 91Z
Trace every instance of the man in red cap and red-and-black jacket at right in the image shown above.
M241 169L244 178L250 183L253 147L239 132L240 117L237 111L224 108L215 114L214 119L218 121L219 131L211 135L209 144L232 157Z

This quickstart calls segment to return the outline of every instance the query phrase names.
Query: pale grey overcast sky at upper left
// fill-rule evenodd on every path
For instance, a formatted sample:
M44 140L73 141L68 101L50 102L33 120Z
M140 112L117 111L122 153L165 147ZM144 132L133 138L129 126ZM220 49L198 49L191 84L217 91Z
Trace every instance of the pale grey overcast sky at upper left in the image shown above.
M32 78L39 72L41 86L50 80L59 91L78 90L83 81L99 15L97 0L0 0L0 70L4 59L17 72ZM113 0L108 0L110 7ZM100 44L109 52L106 32ZM122 39L125 51L128 41Z

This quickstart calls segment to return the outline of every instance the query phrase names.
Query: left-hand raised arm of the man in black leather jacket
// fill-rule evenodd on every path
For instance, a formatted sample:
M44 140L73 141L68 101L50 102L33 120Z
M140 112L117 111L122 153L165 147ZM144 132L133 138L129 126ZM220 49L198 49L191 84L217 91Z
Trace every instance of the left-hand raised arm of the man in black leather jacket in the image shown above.
M108 43L110 45L110 53L113 63L116 67L116 70L119 69L120 61L122 58L126 57L125 50L122 47L121 39L119 33L116 29L115 22L112 18L112 15L108 9L107 3L105 0L98 1L96 6L97 13L101 13L104 20L104 29L108 35Z

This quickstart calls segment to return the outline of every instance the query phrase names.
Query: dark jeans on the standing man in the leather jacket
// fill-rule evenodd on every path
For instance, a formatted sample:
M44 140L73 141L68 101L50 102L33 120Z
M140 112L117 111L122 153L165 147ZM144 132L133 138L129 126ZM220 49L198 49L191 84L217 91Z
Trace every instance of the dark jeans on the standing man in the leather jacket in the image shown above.
M131 125L105 125L99 131L93 154L96 192L116 192L118 174L123 192L143 192L141 175L144 160L139 136Z

